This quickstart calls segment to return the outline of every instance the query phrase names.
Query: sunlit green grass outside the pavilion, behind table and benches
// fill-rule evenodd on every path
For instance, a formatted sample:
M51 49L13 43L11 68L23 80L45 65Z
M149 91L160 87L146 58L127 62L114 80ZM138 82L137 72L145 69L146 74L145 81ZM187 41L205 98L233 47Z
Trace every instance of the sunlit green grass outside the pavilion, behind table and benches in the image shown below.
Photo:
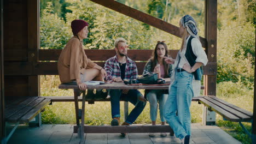
M58 76L41 76L40 77L40 92L43 96L71 96L73 91L71 89L58 89L60 84ZM143 93L143 91L141 91ZM223 82L217 85L217 97L228 101L238 107L253 112L253 90L237 86L237 83ZM79 106L82 104L79 102ZM129 112L133 109L133 105L129 103ZM191 103L191 122L202 122L202 107L196 102ZM85 124L89 125L104 125L110 124L111 118L111 106L109 101L95 102L95 104L85 105ZM124 103L120 102L121 116L124 116ZM46 107L42 113L42 120L45 124L75 124L75 111L74 103L72 102L56 102L53 105ZM123 122L123 117L121 117ZM147 103L145 109L136 119L135 123L150 124L149 115L149 103ZM160 124L160 116L158 113L158 119L156 123ZM242 143L252 143L251 139L246 135L238 123L223 121L222 116L216 115L216 124L218 127L225 130L235 139ZM251 123L243 123L249 131L252 131Z

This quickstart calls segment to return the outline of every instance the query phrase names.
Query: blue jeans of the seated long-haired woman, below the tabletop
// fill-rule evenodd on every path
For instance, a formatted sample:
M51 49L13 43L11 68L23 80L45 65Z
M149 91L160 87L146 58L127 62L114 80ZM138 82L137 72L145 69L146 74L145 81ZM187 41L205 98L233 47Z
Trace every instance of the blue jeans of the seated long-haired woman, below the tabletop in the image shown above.
M160 118L161 122L165 122L164 118L164 106L168 94L162 93L162 90L159 89L152 89L147 94L147 99L150 104L150 118L151 121L155 121L158 115L158 103L159 103L159 111L160 111Z

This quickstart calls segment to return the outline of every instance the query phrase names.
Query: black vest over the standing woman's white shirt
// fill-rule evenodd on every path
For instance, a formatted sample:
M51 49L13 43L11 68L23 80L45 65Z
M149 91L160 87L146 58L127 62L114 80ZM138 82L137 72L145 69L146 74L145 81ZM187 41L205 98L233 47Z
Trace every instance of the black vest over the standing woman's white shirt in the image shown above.
M191 40L193 39L193 36L190 36L187 44L187 50L185 52L185 57L187 58L189 64L191 67L193 67L196 63L196 56L193 52L192 46L191 46ZM193 75L195 77L195 80L202 80L202 67L198 68L196 71L193 72Z

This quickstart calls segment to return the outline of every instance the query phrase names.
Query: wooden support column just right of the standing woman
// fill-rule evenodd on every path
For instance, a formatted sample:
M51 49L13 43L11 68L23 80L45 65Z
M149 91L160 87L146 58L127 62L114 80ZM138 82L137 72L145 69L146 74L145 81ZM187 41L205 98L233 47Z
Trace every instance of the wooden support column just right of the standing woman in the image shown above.
M205 37L207 40L206 55L212 64L214 75L206 75L204 79L205 95L216 96L217 74L217 0L205 0ZM216 113L203 109L203 123L212 125L216 122Z

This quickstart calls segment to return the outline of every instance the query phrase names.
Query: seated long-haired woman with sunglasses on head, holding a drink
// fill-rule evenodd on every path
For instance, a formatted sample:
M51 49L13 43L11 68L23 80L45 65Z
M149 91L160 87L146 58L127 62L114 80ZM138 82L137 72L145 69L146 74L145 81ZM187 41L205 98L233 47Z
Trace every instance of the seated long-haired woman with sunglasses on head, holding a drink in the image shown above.
M152 57L149 59L147 64L144 67L143 75L147 73L158 73L162 78L170 78L172 74L172 65L167 64L164 61L164 57L168 56L168 49L165 41L158 41L155 46L155 50L152 54ZM168 91L161 89L152 89L146 90L146 97L150 104L150 118L152 121L152 125L155 125L156 117L158 114L158 103L159 103L159 111L161 118L161 125L166 124L166 120L164 118L164 105L166 99L168 97ZM149 136L155 136L154 133L149 133ZM160 136L166 136L166 133L161 133Z

